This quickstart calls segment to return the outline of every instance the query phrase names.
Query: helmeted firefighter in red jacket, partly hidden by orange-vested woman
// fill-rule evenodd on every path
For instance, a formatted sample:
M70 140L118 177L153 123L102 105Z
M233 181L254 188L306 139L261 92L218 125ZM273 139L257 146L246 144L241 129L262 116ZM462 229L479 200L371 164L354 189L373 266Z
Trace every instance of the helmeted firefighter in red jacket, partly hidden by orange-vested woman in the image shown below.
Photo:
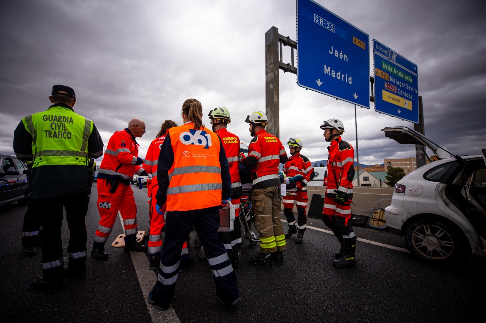
M208 116L213 131L221 138L221 142L225 148L226 158L229 164L229 174L231 175L231 204L235 206L235 218L237 218L240 212L240 198L243 193L242 182L240 180L240 138L226 130L226 127L231 122L228 109L225 107L215 108L209 112ZM233 231L218 232L218 234L221 240L223 240L233 267L240 268L240 250L243 244L240 221L235 219L233 222Z

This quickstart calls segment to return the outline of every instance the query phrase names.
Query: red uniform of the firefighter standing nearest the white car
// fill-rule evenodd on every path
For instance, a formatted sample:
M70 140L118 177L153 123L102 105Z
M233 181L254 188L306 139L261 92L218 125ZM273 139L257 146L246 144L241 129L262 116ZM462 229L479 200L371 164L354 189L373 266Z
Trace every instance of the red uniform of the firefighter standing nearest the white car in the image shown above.
M356 239L356 235L349 219L351 218L350 202L353 198L354 149L339 136L331 142L328 150L328 185L322 210L323 221L339 241L353 240ZM345 205L336 203L336 190L347 194ZM336 218L333 218L334 216Z

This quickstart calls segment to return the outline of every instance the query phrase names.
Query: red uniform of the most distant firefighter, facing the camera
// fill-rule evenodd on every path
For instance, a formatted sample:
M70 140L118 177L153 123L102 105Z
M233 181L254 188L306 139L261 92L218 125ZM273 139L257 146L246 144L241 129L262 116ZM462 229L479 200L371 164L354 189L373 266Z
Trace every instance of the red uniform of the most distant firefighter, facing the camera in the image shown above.
M287 195L283 197L283 213L287 217L289 226L295 225L294 216L294 200L297 204L297 229L304 232L307 226L307 183L311 181L311 174L314 171L311 161L300 152L297 152L294 156L291 156L285 165L283 166L283 172L287 177L295 175L302 175L304 179L301 183L297 184L297 195Z

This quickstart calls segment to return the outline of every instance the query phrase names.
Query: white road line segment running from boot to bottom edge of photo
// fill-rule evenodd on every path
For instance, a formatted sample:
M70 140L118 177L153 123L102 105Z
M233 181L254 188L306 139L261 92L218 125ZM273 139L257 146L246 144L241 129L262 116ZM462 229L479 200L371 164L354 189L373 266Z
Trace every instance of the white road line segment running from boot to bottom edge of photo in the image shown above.
M161 311L155 305L148 302L147 297L149 297L149 292L152 291L152 287L154 287L157 278L154 275L154 271L149 269L149 261L144 252L131 251L130 255L132 256L133 266L135 267L135 272L139 278L140 289L143 292L145 304L149 309L152 322L180 323L181 321L177 317L177 314L175 314L172 306L165 311Z

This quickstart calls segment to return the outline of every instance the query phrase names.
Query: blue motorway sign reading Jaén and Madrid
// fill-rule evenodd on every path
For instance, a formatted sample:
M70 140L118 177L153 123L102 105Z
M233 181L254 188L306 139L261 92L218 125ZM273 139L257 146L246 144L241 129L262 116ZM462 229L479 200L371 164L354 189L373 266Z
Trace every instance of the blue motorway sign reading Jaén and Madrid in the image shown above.
M369 36L311 0L297 0L297 84L369 109Z

